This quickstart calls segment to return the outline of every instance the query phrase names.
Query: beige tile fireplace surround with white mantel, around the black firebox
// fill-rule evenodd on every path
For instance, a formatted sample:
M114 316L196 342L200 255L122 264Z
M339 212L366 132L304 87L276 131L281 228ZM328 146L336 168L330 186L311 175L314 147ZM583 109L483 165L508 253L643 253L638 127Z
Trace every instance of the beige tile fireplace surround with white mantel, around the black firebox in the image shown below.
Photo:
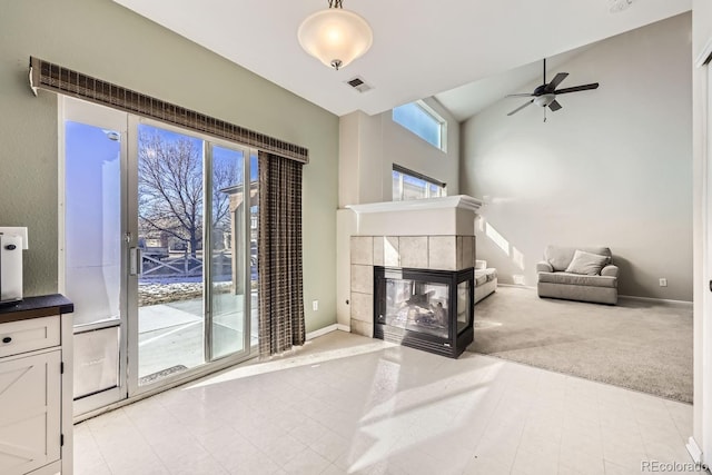
M482 202L475 198L456 195L412 201L353 205L339 210L337 323L352 333L376 336L376 267L405 273L431 271L432 276L451 277L458 276L457 273L461 271L472 271L476 258L475 219L481 205ZM457 278L455 280L455 284L448 281L447 285L455 288L462 283ZM443 284L442 280L433 283ZM415 293L435 295L427 294L434 288L421 290L415 287ZM456 306L456 301L455 297L452 297L448 305ZM439 308L437 314L441 315ZM423 324L424 321L422 319ZM379 331L382 330L383 328ZM413 334L408 328L390 328L388 331L394 338L398 338L398 343L402 343L403 336L407 336L405 340L412 342ZM429 335L431 340L436 337L432 335L433 331ZM428 337L423 337L422 340L431 342ZM455 343L448 342L451 348L455 347ZM444 342L439 342L438 345L446 348ZM455 352L454 356L456 355Z

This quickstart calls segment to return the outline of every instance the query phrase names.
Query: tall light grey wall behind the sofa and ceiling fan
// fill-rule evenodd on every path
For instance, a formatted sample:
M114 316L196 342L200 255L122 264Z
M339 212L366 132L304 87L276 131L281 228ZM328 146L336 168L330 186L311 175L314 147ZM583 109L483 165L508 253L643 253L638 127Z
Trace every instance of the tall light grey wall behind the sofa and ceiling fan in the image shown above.
M501 281L536 285L547 244L606 245L622 295L692 299L690 34L685 13L548 71L570 72L562 87L601 86L560 96L546 122L536 106L507 117L524 102L508 98L463 125L461 191L485 200L484 221L508 241L507 255L478 231Z

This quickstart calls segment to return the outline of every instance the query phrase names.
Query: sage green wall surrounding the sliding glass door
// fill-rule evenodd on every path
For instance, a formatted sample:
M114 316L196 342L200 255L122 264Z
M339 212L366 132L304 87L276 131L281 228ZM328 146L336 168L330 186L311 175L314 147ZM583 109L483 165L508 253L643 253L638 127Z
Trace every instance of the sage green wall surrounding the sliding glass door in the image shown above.
M30 91L30 56L307 147L307 331L336 321L338 117L110 0L0 7L0 226L29 228L26 296L56 293L58 281L57 99Z

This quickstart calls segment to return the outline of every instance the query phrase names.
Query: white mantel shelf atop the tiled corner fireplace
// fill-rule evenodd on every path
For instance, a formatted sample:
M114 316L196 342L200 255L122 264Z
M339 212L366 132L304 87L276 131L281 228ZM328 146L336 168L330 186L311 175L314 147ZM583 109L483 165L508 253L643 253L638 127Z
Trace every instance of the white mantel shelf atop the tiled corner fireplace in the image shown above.
M358 236L474 236L482 201L466 195L350 205Z

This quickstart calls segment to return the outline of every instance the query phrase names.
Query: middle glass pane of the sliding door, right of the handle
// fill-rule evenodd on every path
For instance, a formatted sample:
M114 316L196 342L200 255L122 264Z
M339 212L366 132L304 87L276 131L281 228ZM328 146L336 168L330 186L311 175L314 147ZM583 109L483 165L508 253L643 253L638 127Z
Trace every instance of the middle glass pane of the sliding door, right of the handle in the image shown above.
M138 385L206 362L204 140L137 123ZM132 286L134 287L134 286Z

